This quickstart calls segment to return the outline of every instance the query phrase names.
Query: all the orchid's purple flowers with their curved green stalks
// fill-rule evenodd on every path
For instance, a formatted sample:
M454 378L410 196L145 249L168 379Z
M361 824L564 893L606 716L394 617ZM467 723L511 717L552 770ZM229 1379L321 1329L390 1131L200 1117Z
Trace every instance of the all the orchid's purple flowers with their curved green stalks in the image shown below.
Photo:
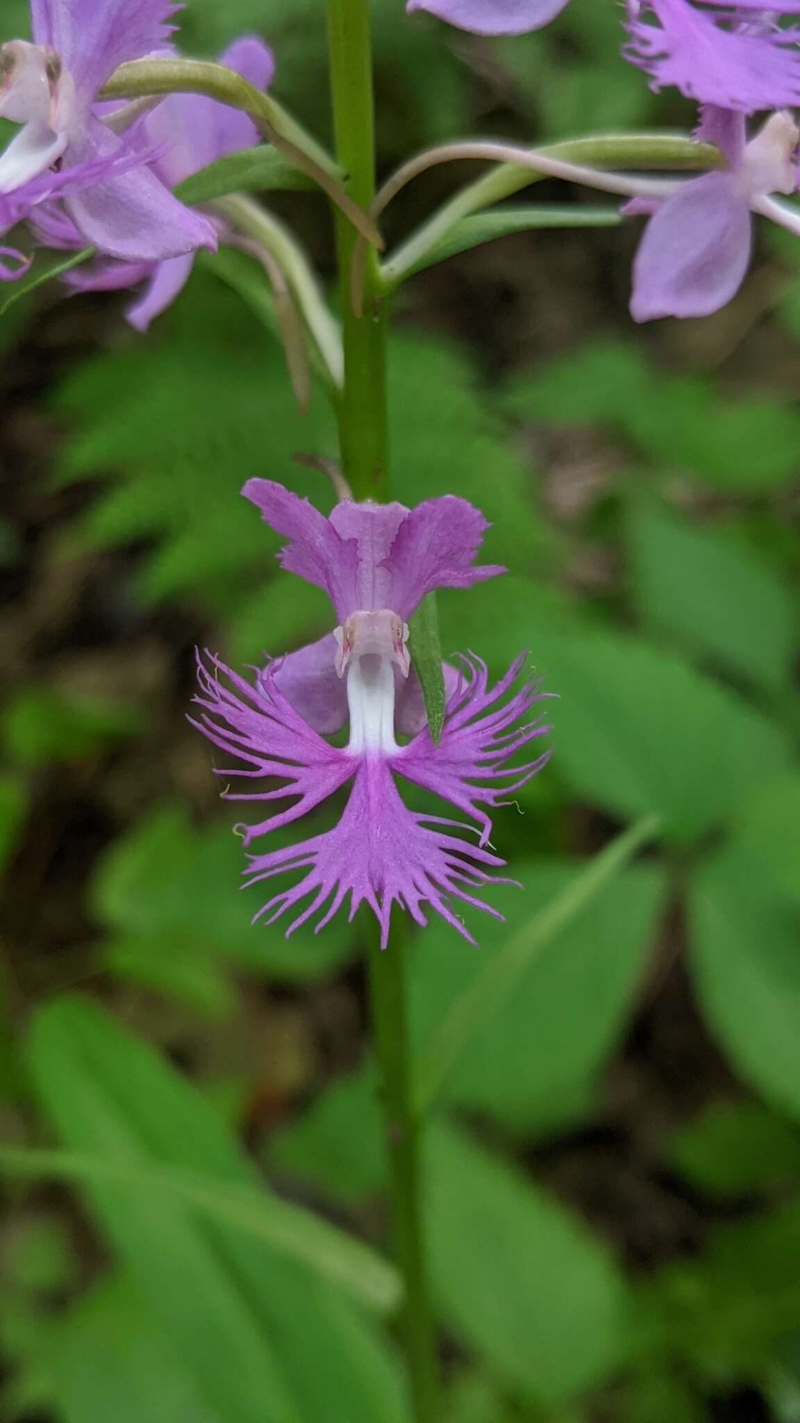
M567 3L409 0L407 10L493 36L537 30ZM404 263L390 255L367 269L364 250L373 243L374 258L380 246L376 223L386 203L426 165L448 158L488 158L515 165L528 175L522 182L551 175L623 196L625 216L648 219L633 263L635 320L702 316L729 302L749 265L753 213L800 233L800 208L776 196L791 196L799 185L800 131L791 107L800 102L800 21L793 18L800 0L621 6L625 60L653 90L673 85L699 104L695 138L682 141L673 165L705 168L699 175L632 176L594 164L591 155L579 164L555 149L465 142L413 159L372 205L367 194L363 208L335 161L266 95L275 70L266 44L243 36L216 65L192 64L174 46L171 14L167 0L31 0L33 38L0 47L0 117L21 125L0 155L0 235L24 222L37 245L73 255L61 272L68 290L134 287L127 314L140 330L181 292L199 249L241 248L272 282L300 398L302 371L295 376L306 342L335 404L346 361L337 320L299 242L236 191L206 194L195 206L179 195L188 178L265 138L357 228L344 293L357 319L364 273L372 283L366 295L380 302L403 266L410 273L447 235L443 209L406 243ZM749 132L756 112L766 117ZM598 152L604 141L614 149L599 135ZM653 152L652 135L642 135L639 166L652 169ZM521 185L487 194L484 205ZM478 208L480 199L471 208L463 202L460 212ZM13 248L0 255L4 280L30 266ZM333 828L251 857L252 882L293 877L262 915L268 922L289 915L290 932L306 921L319 928L340 906L353 914L364 902L386 945L399 905L419 924L433 909L470 938L461 906L497 914L481 898L504 864L490 842L488 811L547 760L547 753L515 760L547 730L540 717L528 720L542 693L524 672L525 656L494 686L474 653L443 666L437 657L444 716L434 729L433 703L409 647L409 619L427 595L502 572L473 562L487 528L483 515L454 495L414 509L342 497L326 518L268 480L249 480L243 494L288 539L283 568L327 592L336 623L317 643L256 669L253 682L216 657L199 659L195 724L238 764L225 763L218 774L260 787L228 787L223 795L276 805L243 827L248 847L349 787ZM344 727L347 741L337 744L332 737ZM467 822L409 808L401 783L450 803Z

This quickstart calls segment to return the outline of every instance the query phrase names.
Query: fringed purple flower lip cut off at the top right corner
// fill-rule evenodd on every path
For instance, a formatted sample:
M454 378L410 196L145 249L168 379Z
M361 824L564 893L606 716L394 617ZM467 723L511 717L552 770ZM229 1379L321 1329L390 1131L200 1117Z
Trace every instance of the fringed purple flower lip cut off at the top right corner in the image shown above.
M744 114L800 104L800 0L628 0L625 57L655 90Z

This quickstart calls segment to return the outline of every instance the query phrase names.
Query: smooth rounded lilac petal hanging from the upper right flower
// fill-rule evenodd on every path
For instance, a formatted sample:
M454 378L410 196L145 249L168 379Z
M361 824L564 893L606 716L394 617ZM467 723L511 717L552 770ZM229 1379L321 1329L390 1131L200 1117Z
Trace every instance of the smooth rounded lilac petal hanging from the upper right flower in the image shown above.
M717 312L742 285L750 242L750 209L730 175L692 178L648 222L633 262L633 320Z

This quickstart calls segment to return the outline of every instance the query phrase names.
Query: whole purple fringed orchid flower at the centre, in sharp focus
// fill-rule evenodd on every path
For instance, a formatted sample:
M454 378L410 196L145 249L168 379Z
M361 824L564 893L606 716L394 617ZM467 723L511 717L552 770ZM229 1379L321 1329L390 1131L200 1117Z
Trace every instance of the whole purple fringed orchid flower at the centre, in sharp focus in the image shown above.
M323 588L339 626L300 652L268 663L255 686L216 657L199 662L202 707L194 723L245 770L218 768L219 776L251 780L278 777L278 790L223 794L232 800L286 801L289 808L256 825L242 827L245 845L298 820L352 781L339 824L289 848L251 855L248 884L300 871L302 878L276 892L259 911L273 924L286 911L300 912L290 933L317 916L319 931L350 899L350 918L366 902L389 939L391 905L409 909L424 925L430 905L465 939L473 938L453 901L502 918L471 891L504 882L491 871L504 861L485 848L491 821L483 807L531 778L548 753L522 766L508 758L547 730L541 721L518 726L542 696L527 680L517 690L524 656L488 686L478 657L447 669L447 712L441 740L434 744L410 666L407 620L421 598L436 588L468 588L504 569L474 566L487 522L478 509L454 495L427 499L414 509L401 504L354 504L344 499L325 518L269 480L249 480L243 495L289 542L279 554L285 569ZM325 740L349 721L344 748ZM399 741L397 736L410 736ZM463 821L409 810L394 777L413 781L451 801L477 822L477 844L453 831ZM310 902L302 908L303 901Z

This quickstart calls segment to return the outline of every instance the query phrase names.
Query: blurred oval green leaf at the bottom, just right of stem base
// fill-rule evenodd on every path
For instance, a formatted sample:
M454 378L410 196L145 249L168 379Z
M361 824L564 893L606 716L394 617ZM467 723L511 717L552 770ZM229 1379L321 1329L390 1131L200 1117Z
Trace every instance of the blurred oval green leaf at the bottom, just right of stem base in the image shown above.
M427 1146L434 1291L456 1338L515 1392L557 1403L618 1363L626 1294L561 1205L453 1127Z

